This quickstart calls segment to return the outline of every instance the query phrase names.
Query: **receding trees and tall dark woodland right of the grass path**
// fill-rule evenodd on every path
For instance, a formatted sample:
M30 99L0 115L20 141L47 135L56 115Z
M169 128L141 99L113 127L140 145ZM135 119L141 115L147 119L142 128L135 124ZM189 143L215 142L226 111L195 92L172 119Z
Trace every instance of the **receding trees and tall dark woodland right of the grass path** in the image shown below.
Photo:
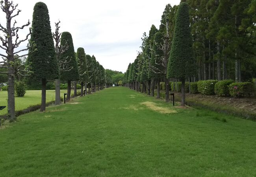
M122 80L126 87L160 98L160 81L251 80L256 77L255 0L182 0L167 4L159 29L143 34L141 52ZM222 63L222 64L221 64ZM142 85L142 88L140 86Z

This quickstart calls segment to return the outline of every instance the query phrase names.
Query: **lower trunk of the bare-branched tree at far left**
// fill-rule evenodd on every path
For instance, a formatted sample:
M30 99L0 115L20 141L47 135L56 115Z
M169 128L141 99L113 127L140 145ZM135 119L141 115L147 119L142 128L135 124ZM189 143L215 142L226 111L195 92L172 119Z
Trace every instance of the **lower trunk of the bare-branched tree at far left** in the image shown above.
M8 120L11 122L16 119L15 117L15 91L14 91L14 72L13 68L8 68L8 87L7 87L7 112L8 112Z

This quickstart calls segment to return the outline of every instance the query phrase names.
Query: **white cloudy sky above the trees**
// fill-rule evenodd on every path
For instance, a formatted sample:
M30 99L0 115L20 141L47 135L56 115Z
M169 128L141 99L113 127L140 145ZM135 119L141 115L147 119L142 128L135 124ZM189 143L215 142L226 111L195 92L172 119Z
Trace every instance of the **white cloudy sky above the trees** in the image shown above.
M13 0L22 10L16 18L22 25L32 21L37 0ZM58 19L60 31L72 34L74 48L83 47L85 53L95 55L104 68L125 72L140 50L141 37L150 26L159 28L165 5L179 4L180 0L42 0L50 15L52 31ZM5 24L0 11L0 22ZM28 28L20 31L20 37ZM21 38L20 38L21 39ZM26 44L24 44L26 45ZM3 51L0 51L1 53Z

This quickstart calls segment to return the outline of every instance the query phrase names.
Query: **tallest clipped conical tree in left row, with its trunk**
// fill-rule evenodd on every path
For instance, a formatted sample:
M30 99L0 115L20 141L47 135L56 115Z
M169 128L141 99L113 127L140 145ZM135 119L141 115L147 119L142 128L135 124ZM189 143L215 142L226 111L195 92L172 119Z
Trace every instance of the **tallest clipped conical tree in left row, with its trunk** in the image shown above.
M35 48L28 55L28 63L33 72L30 78L42 83L40 111L45 111L46 81L59 78L59 67L50 26L50 17L47 6L43 2L37 2L34 6L30 41L33 41L32 45Z

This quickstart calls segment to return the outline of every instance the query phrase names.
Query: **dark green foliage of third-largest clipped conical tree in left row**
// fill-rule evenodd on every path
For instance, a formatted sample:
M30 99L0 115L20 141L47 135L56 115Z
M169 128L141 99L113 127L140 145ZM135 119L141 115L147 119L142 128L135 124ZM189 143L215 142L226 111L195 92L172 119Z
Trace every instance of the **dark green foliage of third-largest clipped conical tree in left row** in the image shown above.
M87 66L86 66L85 52L84 52L84 49L82 47L77 49L76 58L77 58L76 60L77 60L78 72L79 72L80 80L81 81L85 81Z

